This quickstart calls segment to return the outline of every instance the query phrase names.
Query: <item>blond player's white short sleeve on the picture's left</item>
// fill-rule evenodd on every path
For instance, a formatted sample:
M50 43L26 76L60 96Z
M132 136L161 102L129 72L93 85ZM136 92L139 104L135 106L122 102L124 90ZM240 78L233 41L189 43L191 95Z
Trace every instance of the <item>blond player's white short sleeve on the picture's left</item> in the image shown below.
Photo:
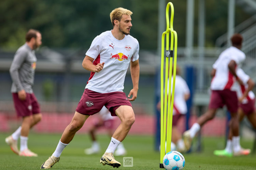
M102 40L101 40L100 36L95 37L93 42L91 43L90 48L86 52L86 55L88 55L91 58L96 59L97 56L101 52L101 42L102 42Z

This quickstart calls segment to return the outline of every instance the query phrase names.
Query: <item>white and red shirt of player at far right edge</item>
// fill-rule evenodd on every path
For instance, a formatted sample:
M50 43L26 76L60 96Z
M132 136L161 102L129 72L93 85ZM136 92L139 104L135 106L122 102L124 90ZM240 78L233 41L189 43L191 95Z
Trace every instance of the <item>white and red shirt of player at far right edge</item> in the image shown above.
M250 77L241 68L238 68L236 73L239 79L243 82L243 85L240 85L237 81L234 83L234 89L236 89L237 91L237 97L241 98L245 90L248 88L247 82L250 79ZM248 96L243 99L242 104L246 104L248 103L248 100L253 100L254 98L254 93L252 91L249 91Z

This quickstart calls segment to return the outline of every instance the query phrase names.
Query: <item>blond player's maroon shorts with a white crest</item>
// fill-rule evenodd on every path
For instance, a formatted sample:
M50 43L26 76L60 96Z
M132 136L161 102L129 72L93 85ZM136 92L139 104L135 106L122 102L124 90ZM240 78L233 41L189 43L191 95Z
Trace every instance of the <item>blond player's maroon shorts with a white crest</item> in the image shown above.
M122 91L98 93L85 89L83 96L76 107L76 112L83 115L94 115L98 113L103 106L106 106L111 115L116 116L116 109L121 105L128 105L132 107L130 101Z

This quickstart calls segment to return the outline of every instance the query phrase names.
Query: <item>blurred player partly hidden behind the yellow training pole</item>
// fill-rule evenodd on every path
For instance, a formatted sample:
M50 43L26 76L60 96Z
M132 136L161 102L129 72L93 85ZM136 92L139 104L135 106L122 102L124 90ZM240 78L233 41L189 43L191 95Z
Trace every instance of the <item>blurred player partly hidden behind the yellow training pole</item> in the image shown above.
M173 69L173 66L172 66ZM172 70L173 73L173 70ZM171 150L184 152L186 151L184 141L182 139L182 132L177 127L177 123L180 118L184 117L187 113L187 104L186 101L190 97L190 91L187 86L186 81L180 76L181 69L179 65L176 65L176 79L175 79L175 91L174 91L174 101L173 101L173 116L172 116L172 141L171 141ZM173 75L171 80L171 85L173 82ZM169 79L168 79L169 87ZM172 86L171 86L172 89ZM169 94L169 88L167 89ZM171 91L172 92L172 91ZM161 103L158 102L157 108L161 109Z

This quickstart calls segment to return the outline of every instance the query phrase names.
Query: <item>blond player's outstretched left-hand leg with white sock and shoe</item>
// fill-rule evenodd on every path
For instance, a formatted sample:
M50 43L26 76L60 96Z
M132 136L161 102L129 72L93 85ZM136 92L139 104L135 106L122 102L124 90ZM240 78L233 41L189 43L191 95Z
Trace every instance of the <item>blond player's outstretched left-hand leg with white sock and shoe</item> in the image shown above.
M83 115L78 112L75 112L70 124L64 130L58 146L54 151L53 155L50 156L41 166L41 169L49 169L55 163L59 162L60 154L64 150L64 148L69 144L69 142L75 136L75 133L82 128L84 122L89 117L89 115Z

